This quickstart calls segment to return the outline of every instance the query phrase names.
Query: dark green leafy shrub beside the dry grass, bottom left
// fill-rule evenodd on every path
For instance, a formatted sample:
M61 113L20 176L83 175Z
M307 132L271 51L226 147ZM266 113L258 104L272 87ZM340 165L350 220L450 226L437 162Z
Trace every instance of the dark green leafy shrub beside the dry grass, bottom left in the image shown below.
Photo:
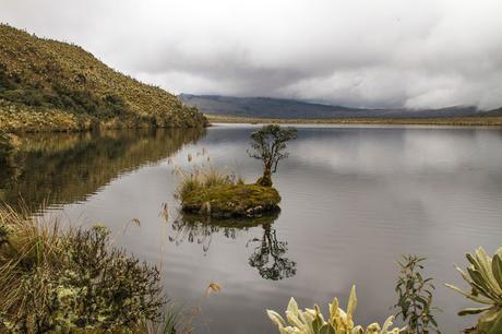
M53 295L63 326L117 330L160 315L166 300L158 270L109 243L109 231L100 226L68 240L70 267Z

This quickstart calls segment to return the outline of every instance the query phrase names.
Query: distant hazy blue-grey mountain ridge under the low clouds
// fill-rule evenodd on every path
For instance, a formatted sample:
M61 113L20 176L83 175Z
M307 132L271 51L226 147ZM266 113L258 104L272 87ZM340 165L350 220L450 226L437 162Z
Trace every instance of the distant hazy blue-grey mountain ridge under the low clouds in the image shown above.
M252 118L435 118L468 116L501 116L502 109L478 111L473 106L441 109L364 109L315 104L296 99L272 97L231 97L222 95L180 94L178 98L207 115Z

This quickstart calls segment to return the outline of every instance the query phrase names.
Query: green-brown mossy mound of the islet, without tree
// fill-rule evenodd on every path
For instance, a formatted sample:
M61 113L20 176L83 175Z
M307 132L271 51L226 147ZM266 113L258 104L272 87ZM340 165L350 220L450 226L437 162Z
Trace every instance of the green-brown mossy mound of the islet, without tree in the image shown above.
M184 193L181 207L213 217L255 217L279 210L279 193L272 187L224 184Z

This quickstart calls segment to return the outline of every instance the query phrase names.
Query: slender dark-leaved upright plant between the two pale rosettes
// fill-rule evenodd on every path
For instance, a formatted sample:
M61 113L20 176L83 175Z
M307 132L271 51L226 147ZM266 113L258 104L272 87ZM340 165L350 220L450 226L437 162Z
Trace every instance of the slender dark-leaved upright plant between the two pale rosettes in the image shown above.
M407 332L410 334L441 333L432 314L433 310L438 310L432 307L432 291L435 287L431 283L432 278L423 278L420 273L426 259L403 255L403 260L397 262L401 274L395 287L398 298L394 308L399 309L396 317L403 318L408 325Z

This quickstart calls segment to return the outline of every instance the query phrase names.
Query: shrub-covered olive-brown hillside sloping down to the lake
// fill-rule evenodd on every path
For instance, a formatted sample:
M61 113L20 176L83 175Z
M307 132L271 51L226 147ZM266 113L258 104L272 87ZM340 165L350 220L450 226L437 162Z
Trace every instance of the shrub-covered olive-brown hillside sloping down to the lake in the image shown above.
M205 123L195 108L110 69L79 46L0 24L0 130Z

